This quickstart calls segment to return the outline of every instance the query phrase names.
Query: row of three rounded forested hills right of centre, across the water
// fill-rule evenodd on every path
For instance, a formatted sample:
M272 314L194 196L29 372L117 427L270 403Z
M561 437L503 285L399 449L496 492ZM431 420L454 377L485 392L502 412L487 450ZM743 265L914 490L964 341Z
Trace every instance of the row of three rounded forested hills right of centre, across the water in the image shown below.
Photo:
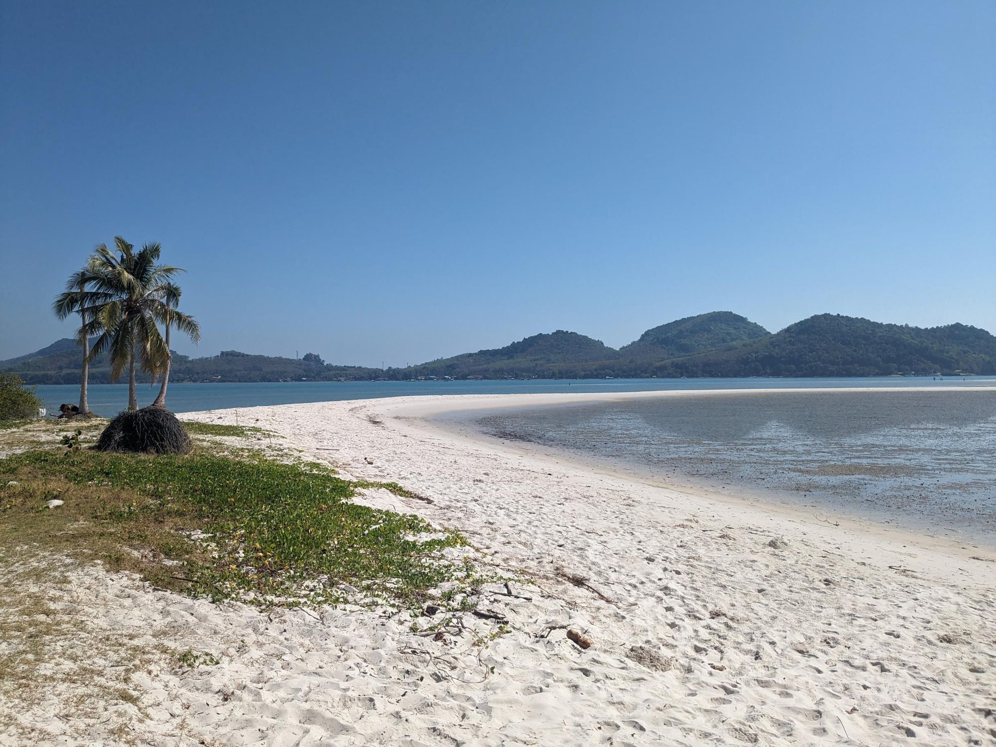
M559 344L545 345L546 339ZM647 330L619 351L582 335L558 332L494 351L390 370L387 375L585 378L955 372L996 373L996 338L961 324L920 329L833 314L811 317L772 335L744 317L713 312Z

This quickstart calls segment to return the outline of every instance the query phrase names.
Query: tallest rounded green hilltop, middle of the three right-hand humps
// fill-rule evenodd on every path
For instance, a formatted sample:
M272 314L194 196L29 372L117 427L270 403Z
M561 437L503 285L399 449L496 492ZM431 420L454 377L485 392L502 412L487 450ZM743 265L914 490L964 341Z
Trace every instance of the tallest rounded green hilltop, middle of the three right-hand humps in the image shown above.
M690 356L770 337L761 325L733 312L710 312L685 317L647 330L620 349L622 358L653 359Z

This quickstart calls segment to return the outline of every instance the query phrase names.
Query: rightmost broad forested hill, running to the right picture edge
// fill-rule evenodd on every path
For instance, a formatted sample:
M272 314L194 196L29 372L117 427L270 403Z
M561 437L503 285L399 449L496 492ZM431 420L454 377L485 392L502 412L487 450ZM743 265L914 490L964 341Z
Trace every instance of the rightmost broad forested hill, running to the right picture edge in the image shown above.
M919 328L821 314L729 351L660 361L659 376L871 376L996 373L996 337L953 324Z

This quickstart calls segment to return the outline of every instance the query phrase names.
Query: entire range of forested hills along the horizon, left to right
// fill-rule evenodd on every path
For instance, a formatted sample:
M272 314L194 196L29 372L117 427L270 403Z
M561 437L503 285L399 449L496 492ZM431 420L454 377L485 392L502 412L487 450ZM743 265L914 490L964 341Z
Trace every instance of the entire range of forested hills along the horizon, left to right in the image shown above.
M60 340L0 362L28 383L78 383L80 349ZM107 357L91 380L110 380ZM603 376L866 376L891 373L996 374L996 338L953 324L921 329L821 314L779 333L730 312L688 317L655 327L617 351L598 340L558 330L493 350L466 353L405 369L331 366L303 359L225 351L188 358L174 354L174 381L287 381L418 377L590 378Z

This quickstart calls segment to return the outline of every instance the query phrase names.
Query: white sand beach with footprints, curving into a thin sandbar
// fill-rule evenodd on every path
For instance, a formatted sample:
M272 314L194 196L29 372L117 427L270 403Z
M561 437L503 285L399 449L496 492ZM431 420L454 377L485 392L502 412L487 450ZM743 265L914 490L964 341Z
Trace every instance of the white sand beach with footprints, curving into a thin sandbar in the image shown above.
M36 744L59 745L996 745L992 549L831 526L425 419L645 395L184 415L238 418L349 476L396 481L431 502L382 489L364 500L463 532L483 563L516 580L481 590L478 609L492 619L467 616L467 629L435 639L412 629L425 618L260 614L72 568L46 594L79 655L46 697L18 706L19 722L37 730ZM156 645L218 663L177 668ZM142 651L133 700L101 694ZM71 675L84 664L108 687L77 702ZM0 728L0 744L19 744L13 734Z

